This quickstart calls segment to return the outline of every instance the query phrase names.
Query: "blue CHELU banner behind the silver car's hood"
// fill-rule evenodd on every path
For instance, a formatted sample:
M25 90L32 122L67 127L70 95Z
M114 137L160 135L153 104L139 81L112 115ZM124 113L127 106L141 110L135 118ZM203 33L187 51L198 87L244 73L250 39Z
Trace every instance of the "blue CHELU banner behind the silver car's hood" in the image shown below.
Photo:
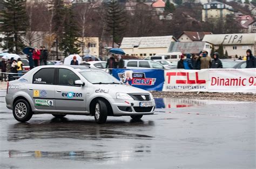
M112 75L127 85L144 90L162 91L165 81L161 69L113 69Z

